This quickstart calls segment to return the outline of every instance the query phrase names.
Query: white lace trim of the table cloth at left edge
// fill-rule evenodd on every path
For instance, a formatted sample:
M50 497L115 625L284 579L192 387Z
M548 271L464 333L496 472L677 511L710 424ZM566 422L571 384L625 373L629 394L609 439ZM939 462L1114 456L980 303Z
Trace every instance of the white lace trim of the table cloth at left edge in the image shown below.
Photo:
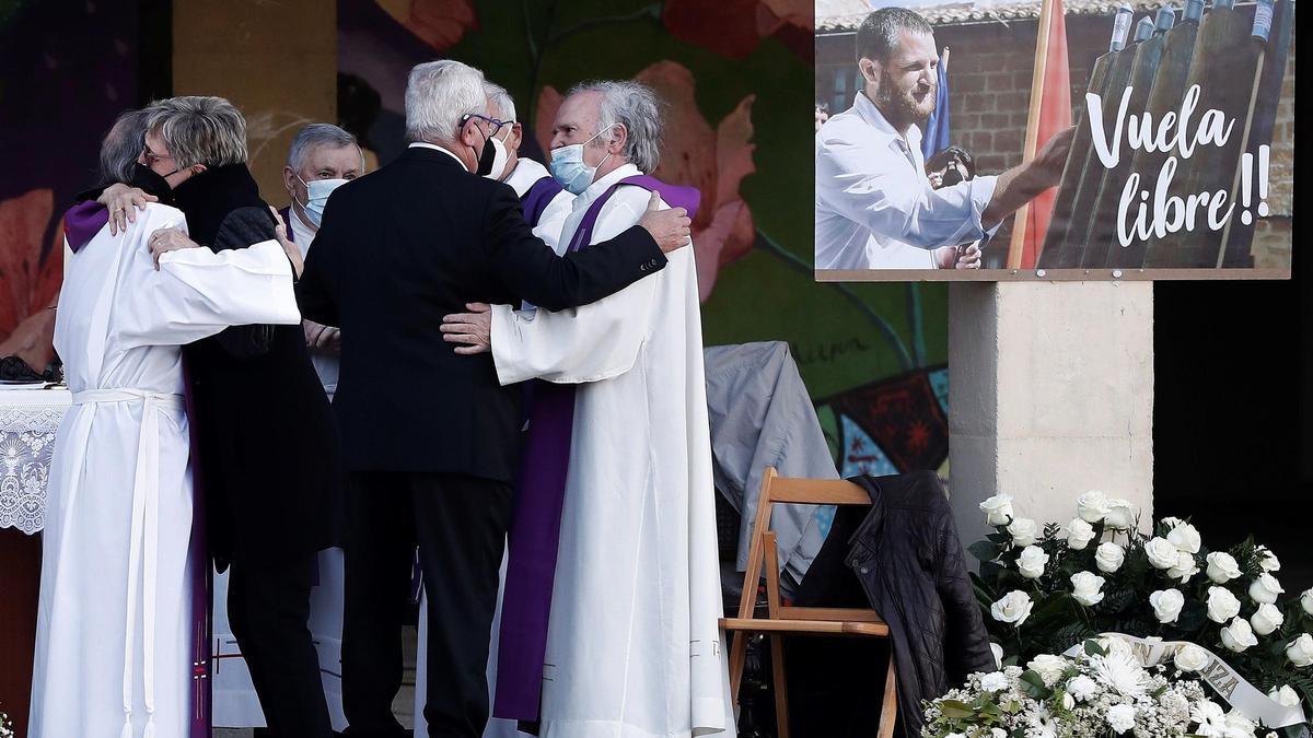
M30 536L45 527L55 432L67 411L58 402L0 404L0 528Z

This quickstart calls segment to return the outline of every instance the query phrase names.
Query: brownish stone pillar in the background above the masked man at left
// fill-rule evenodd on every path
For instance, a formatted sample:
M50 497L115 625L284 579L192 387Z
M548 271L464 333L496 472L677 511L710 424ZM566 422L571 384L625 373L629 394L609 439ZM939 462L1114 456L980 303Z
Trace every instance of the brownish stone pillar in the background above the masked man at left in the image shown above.
M251 172L288 204L291 137L337 122L337 13L319 0L173 4L173 95L227 97L247 119Z

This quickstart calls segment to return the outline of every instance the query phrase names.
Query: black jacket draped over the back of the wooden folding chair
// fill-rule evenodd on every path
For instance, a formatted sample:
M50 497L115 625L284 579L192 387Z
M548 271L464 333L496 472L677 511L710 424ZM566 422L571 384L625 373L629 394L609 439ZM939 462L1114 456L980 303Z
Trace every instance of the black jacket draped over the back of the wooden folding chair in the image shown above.
M867 490L872 507L839 510L797 599L851 607L856 594L889 624L898 671L897 734L915 738L924 722L922 700L961 687L969 674L994 671L994 654L939 477L918 471L851 481ZM867 693L853 700L878 704L878 679L868 679L872 664L859 668L864 674L853 680L864 682ZM873 716L868 721L874 725Z

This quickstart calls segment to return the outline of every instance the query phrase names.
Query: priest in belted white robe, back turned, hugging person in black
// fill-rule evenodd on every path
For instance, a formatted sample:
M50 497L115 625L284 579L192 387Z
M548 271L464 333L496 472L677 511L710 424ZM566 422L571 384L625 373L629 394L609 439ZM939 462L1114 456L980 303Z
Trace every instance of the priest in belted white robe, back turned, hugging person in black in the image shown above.
M129 113L106 137L102 162L129 152L108 181L150 186L133 169L143 129L144 116ZM155 194L189 173L156 175ZM152 243L156 253L194 246L181 210L147 205L112 234L97 207L66 217L75 253L54 341L74 406L47 491L30 735L183 738L194 735L206 688L193 679L192 604L206 559L192 546L180 345L235 324L298 323L299 255L269 240L222 253L180 248L156 264Z

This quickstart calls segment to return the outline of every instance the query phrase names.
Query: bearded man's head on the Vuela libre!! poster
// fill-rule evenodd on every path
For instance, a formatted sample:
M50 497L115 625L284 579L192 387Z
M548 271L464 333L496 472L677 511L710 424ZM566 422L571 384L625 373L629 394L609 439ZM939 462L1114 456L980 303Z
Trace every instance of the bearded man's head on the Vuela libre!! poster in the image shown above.
M924 123L935 110L939 54L932 34L905 30L888 59L863 58L860 67L872 102L894 127Z

